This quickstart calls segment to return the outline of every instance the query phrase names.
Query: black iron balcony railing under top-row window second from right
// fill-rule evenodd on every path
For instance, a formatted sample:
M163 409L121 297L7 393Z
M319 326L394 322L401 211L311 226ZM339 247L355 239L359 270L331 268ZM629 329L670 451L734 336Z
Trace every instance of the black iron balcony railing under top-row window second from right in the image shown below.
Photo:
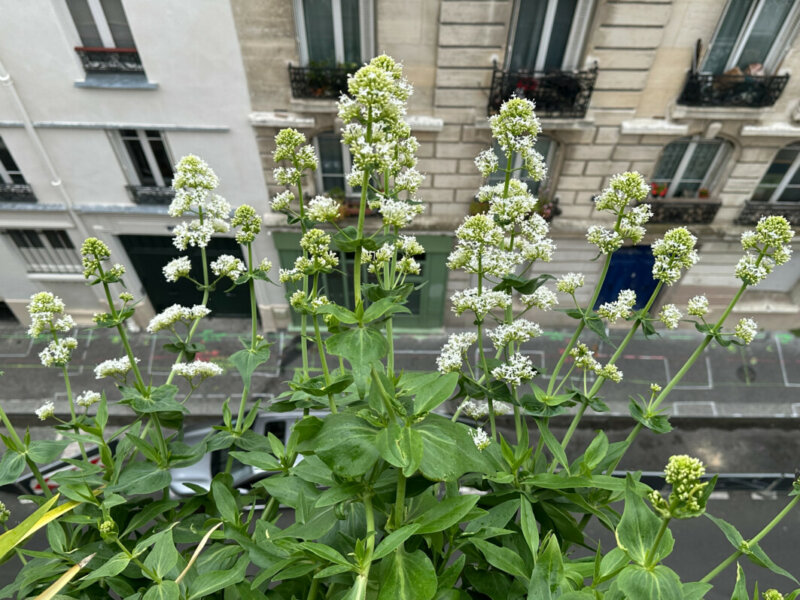
M550 118L583 118L597 81L597 63L588 71L503 71L495 66L489 92L489 114L511 98L536 103L536 114Z

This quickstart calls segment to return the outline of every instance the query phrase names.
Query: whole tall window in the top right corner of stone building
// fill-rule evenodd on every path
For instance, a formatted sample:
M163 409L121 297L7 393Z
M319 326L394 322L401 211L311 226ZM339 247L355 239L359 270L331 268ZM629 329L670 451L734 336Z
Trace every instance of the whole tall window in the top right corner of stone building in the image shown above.
M797 24L794 0L730 0L706 55L703 71L763 75L773 71Z

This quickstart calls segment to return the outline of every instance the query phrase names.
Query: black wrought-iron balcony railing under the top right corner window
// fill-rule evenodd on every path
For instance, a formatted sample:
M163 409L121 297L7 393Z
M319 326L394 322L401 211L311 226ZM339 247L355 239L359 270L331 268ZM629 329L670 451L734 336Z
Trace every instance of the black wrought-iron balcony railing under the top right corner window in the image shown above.
M678 104L761 108L780 97L789 75L711 75L689 71Z

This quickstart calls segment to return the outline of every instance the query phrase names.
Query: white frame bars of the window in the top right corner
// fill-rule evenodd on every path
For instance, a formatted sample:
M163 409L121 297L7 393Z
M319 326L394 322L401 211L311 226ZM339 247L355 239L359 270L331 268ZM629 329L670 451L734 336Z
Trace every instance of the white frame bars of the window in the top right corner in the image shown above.
M752 0L752 4L747 11L747 16L745 17L744 24L742 25L741 30L739 31L739 35L736 38L736 42L731 49L730 54L728 55L728 59L725 62L725 67L722 70L722 73L726 73L727 71L736 67L741 58L742 51L744 47L747 45L747 41L750 38L750 34L753 31L753 27L755 27L756 21L758 20L759 15L764 9L765 4L768 0ZM706 48L705 56L703 58L703 66L700 68L701 73L711 73L706 68L708 64L708 59L710 57L711 49L714 47L714 43L717 41L717 36L722 31L722 25L725 22L725 17L728 16L728 11L730 10L731 4L733 0L728 0L725 4L725 8L720 15L719 20L717 21L716 29L714 30L714 35L711 36L711 42L708 44ZM783 56L789 49L790 41L795 37L797 34L797 28L800 24L800 4L797 2L793 3L792 7L789 9L789 14L786 20L783 22L778 34L775 36L774 41L772 42L772 46L767 52L766 57L764 58L764 71L766 73L774 73L778 67L778 64L783 60Z

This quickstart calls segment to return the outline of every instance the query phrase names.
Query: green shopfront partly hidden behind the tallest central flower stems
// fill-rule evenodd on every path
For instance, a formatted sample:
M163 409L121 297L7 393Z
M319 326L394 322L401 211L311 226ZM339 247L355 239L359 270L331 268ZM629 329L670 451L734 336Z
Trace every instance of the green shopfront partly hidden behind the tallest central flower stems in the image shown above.
M272 234L278 250L281 267L291 268L295 259L300 255L300 234L275 232ZM444 298L447 288L447 255L453 248L452 238L445 236L417 236L419 242L425 247L423 256L415 257L422 267L420 275L408 275L406 282L419 285L420 289L414 290L408 298L410 315L395 315L395 324L398 327L409 329L422 329L441 327L444 313ZM339 252L339 269L320 277L321 293L332 301L349 308L353 308L353 259L352 253ZM374 276L368 275L363 269L362 281L374 282ZM287 284L287 295L291 295L297 288ZM300 318L292 311L294 324L298 325Z

